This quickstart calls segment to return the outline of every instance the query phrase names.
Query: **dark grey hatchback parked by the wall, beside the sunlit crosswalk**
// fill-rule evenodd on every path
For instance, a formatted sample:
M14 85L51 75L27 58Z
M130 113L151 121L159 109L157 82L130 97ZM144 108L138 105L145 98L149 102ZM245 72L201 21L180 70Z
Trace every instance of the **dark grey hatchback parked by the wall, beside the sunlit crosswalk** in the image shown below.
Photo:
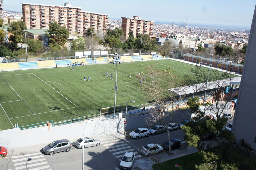
M45 154L53 155L58 152L69 152L72 148L71 143L67 139L56 140L43 148Z

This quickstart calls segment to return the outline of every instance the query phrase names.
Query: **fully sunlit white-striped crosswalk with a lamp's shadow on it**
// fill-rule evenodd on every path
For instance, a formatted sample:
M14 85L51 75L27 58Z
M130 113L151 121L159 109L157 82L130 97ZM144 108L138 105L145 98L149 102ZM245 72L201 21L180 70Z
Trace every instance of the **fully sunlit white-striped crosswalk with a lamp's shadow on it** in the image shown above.
M32 153L12 157L15 170L51 170L42 153Z

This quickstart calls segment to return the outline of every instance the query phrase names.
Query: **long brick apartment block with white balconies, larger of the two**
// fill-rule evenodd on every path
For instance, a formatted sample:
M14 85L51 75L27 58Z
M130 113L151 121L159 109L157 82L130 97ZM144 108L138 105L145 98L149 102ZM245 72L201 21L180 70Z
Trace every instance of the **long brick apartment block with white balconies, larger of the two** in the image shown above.
M78 36L85 35L90 27L98 33L108 29L107 14L81 11L81 7L72 7L71 3L65 3L64 6L21 4L23 21L28 29L49 29L51 21L66 26L70 34L76 32Z

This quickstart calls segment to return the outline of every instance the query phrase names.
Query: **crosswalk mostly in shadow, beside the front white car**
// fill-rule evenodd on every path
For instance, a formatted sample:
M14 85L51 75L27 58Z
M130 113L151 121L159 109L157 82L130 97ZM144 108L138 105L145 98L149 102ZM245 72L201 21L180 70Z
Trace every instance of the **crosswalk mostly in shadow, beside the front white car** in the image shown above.
M122 139L101 142L101 144L105 146L120 161L124 156L125 152L135 153L135 158L141 157L141 155L136 151L137 150L136 148L134 148L133 146L130 146L127 141Z

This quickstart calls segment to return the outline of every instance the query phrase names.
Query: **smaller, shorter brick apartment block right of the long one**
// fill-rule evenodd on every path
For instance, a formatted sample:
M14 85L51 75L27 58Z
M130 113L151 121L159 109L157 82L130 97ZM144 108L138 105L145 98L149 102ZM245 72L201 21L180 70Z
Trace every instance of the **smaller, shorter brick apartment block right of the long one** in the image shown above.
M133 16L133 18L121 17L121 28L125 34L125 38L129 37L129 33L133 31L133 36L138 34L148 34L150 38L153 38L153 26L154 21L142 20L140 16Z

